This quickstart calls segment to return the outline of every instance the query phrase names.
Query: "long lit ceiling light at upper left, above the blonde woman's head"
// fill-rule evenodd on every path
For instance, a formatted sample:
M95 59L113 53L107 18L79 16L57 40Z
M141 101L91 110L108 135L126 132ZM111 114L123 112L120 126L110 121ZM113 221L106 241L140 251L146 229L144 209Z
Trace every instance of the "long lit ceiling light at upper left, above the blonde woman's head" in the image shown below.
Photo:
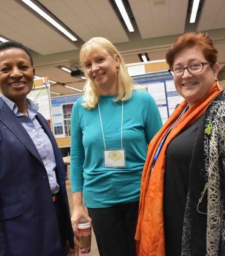
M41 10L36 4L34 4L30 0L21 0L24 2L24 4L28 5L31 9L33 9L36 13L41 15L46 21L48 21L50 24L52 24L54 27L56 27L58 30L60 30L66 37L69 37L72 41L77 41L77 38L75 38L71 33L69 33L66 29L64 29L63 26L61 26L57 21L55 21L53 18L51 18L49 15L47 15L46 12Z

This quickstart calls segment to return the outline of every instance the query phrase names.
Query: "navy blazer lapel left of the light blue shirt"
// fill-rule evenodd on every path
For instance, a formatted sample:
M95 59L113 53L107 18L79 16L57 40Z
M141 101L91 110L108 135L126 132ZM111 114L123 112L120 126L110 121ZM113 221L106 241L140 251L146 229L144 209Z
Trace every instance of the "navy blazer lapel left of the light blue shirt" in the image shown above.
M0 121L8 127L8 129L18 138L18 140L24 144L24 146L38 159L42 162L41 157L30 138L27 131L24 129L22 124L16 118L15 114L10 110L10 108L5 104L5 102L0 98Z

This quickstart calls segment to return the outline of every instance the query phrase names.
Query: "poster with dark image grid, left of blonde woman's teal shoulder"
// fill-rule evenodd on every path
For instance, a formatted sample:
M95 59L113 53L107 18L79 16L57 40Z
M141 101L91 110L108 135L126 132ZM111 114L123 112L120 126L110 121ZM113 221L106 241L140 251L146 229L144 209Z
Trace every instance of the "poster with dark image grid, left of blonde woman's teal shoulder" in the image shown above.
M82 94L52 98L52 127L55 138L71 136L71 112L74 102Z

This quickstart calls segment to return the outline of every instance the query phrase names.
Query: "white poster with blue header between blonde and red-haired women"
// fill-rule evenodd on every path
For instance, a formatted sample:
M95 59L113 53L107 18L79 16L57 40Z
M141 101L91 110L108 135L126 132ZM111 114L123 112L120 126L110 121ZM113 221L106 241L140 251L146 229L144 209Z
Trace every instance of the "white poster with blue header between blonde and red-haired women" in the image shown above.
M162 123L173 113L177 104L184 98L178 94L175 84L167 70L133 76L134 81L147 88L153 96L161 114Z

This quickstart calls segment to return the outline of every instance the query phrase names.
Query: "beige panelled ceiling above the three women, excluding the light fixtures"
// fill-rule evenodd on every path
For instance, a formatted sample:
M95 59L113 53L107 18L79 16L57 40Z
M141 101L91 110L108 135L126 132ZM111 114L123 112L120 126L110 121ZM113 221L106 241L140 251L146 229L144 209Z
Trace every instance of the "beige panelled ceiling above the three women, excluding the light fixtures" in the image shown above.
M135 30L128 32L113 0L34 0L76 35L78 40L74 42L21 0L0 0L0 35L20 41L31 49L36 74L58 82L51 85L52 96L55 96L54 92L62 95L78 93L64 85L83 89L85 82L80 77L71 77L58 67L77 69L79 48L92 37L108 38L126 63L137 63L140 62L137 54L145 52L150 60L165 59L165 52L178 35L204 31L213 38L223 68L225 0L201 0L198 20L189 24L192 1L123 0Z

